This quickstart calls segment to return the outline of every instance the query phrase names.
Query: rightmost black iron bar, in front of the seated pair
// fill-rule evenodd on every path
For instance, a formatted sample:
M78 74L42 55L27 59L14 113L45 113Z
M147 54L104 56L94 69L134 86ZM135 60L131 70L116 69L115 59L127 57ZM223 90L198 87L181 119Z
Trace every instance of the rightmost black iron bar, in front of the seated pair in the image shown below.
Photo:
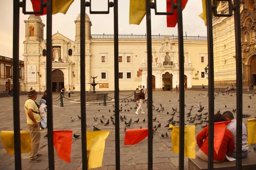
M234 0L234 21L236 37L236 170L242 169L242 52L241 52L241 27L239 0Z

